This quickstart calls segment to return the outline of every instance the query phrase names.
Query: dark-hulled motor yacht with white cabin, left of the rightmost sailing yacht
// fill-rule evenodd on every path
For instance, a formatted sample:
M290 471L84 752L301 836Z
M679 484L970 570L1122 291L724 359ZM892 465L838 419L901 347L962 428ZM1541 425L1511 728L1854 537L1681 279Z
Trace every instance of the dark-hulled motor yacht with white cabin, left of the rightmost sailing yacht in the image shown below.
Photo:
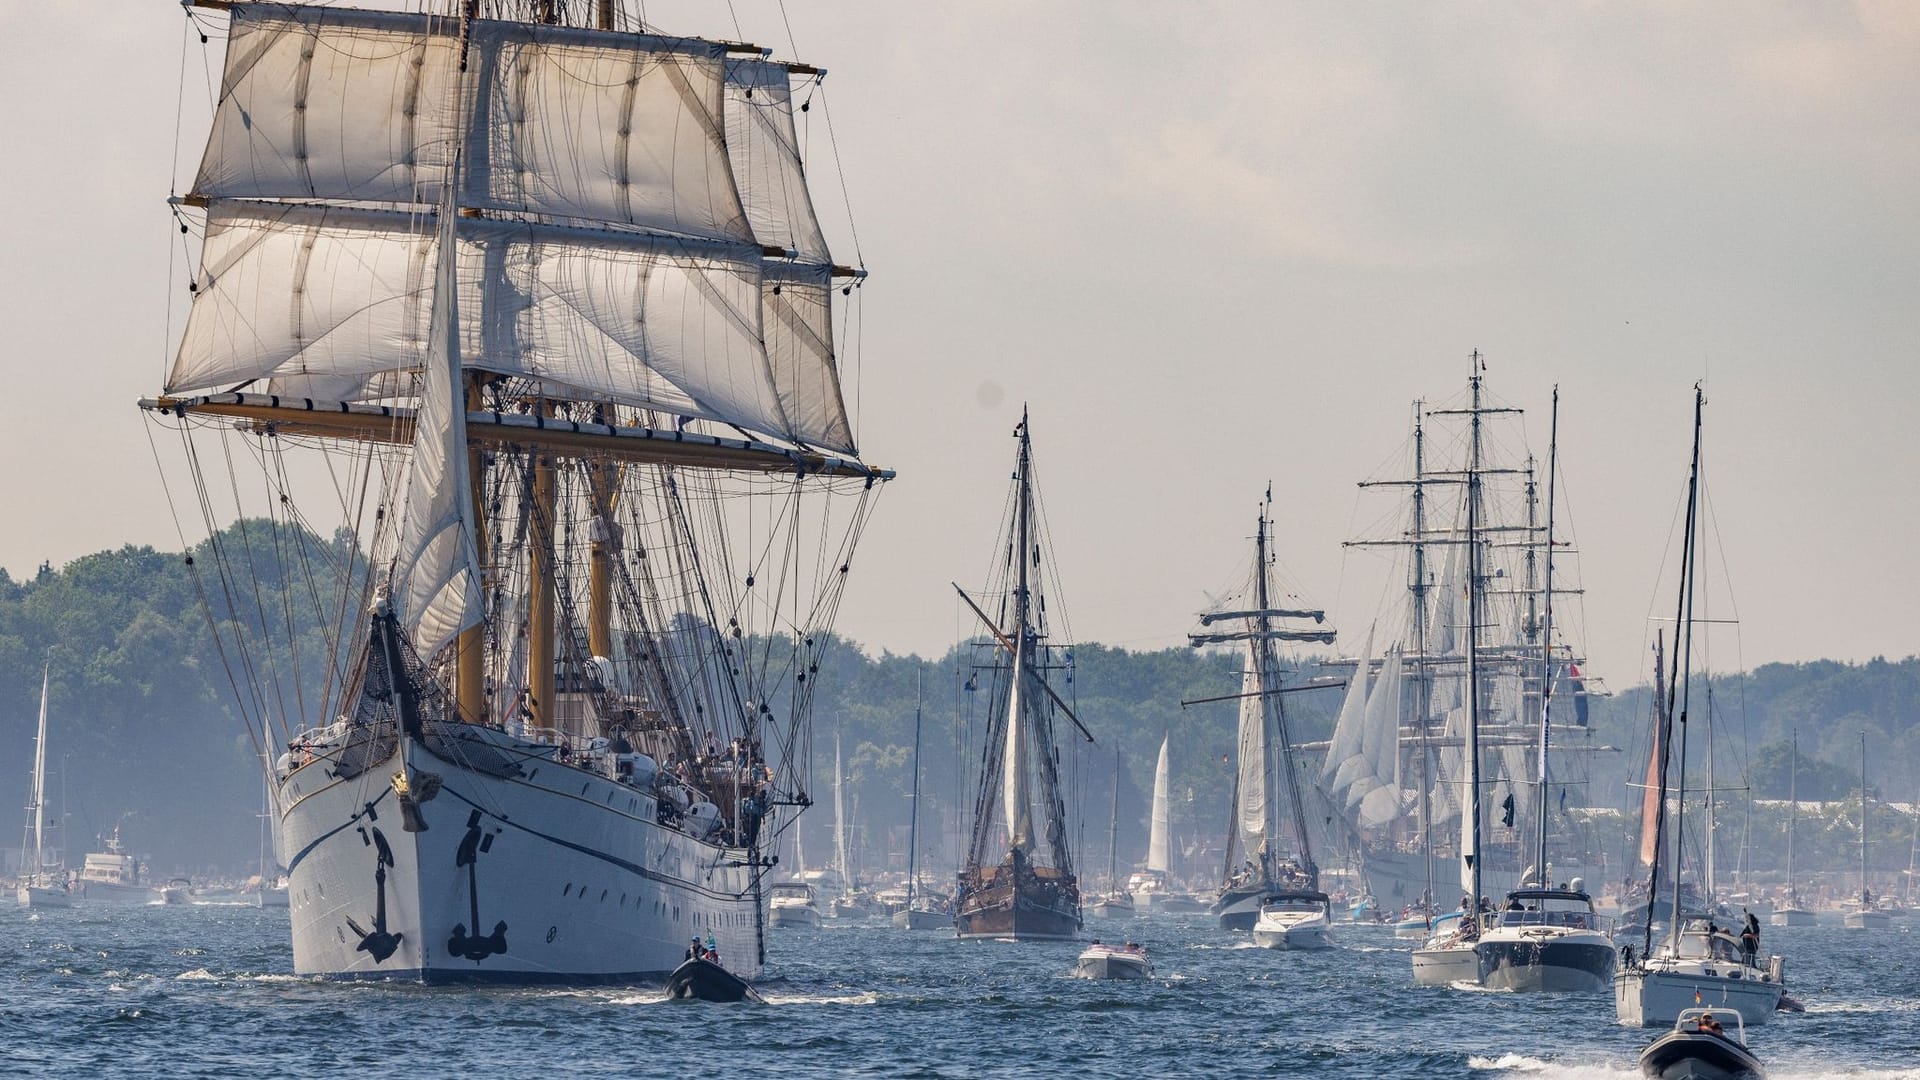
M1603 992L1613 980L1613 938L1578 888L1523 888L1480 934L1480 986L1490 990Z

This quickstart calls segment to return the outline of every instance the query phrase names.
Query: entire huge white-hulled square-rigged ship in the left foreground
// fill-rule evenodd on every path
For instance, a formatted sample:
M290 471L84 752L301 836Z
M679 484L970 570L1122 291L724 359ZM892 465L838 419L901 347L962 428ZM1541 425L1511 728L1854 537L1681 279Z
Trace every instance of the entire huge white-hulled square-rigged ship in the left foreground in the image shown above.
M822 73L611 0L204 6L192 313L142 405L213 534L294 969L624 980L710 936L756 972L891 477L839 390Z

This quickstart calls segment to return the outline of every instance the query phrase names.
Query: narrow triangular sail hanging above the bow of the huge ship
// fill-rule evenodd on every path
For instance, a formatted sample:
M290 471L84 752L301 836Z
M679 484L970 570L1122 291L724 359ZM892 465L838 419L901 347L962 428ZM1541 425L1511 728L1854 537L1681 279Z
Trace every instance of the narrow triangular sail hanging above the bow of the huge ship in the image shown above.
M467 400L461 386L459 288L451 215L442 215L428 319L426 369L407 463L394 598L420 657L432 657L480 623L480 559L474 552L472 480L467 465Z

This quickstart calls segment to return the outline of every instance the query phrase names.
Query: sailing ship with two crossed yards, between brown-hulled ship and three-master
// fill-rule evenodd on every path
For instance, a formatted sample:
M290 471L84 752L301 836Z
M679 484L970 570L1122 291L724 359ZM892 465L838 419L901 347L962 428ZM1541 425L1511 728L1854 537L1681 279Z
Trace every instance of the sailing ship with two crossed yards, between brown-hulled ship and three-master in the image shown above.
M1271 582L1273 552L1267 544L1271 507L1273 486L1269 484L1267 498L1260 505L1248 584L1229 598L1225 609L1200 615L1202 628L1187 636L1194 648L1221 644L1246 648L1240 667L1240 694L1233 696L1240 701L1233 821L1227 828L1227 861L1219 897L1210 909L1219 917L1223 930L1252 930L1267 897L1275 894L1319 892L1319 867L1313 865L1304 780L1294 761L1294 740L1281 698L1286 688L1281 686L1273 644L1332 644L1334 630L1323 628L1325 611L1277 605ZM1215 628L1215 625L1223 626ZM1302 684L1294 690L1308 686ZM1281 849L1281 790L1284 790L1286 805L1292 811L1288 819L1292 826L1290 855ZM1242 849L1246 859L1235 865L1235 857Z

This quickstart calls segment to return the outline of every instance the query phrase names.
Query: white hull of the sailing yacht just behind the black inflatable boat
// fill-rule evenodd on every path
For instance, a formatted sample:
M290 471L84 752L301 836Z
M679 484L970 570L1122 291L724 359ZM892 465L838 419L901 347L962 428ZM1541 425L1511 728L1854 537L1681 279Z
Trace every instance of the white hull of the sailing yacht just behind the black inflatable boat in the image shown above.
M1695 1005L1738 1011L1747 1024L1764 1024L1786 992L1786 961L1766 957L1759 967L1740 947L1740 938L1707 922L1684 928L1676 944L1651 957L1628 961L1613 976L1613 1007L1622 1024L1661 1028Z

